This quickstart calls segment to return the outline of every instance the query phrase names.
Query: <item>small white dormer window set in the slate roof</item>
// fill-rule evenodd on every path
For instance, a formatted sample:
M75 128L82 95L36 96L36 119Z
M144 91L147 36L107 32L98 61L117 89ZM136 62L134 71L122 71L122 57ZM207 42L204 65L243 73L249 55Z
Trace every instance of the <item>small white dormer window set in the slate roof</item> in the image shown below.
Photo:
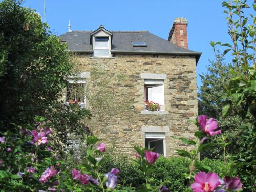
M110 43L109 37L94 37L94 56L95 57L109 57Z

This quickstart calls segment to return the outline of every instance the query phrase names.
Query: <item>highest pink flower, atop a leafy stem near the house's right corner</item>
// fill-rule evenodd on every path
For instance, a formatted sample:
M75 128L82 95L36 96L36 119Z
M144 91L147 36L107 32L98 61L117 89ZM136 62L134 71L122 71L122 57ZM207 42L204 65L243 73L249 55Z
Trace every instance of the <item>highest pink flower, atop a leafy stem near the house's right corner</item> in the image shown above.
M206 121L206 119L206 115L200 115L197 117L197 121L201 130L209 136L220 134L221 130L218 130L216 132L214 131L218 127L218 123L214 120L214 118L210 118L208 121Z

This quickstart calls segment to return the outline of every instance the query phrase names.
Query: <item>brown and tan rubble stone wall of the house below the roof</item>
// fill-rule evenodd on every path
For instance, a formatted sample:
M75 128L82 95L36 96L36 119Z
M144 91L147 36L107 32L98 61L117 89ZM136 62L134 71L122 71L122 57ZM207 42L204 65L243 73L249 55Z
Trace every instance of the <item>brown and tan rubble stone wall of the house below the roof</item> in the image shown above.
M175 148L186 145L171 138L193 138L196 126L188 122L198 113L195 56L170 55L121 55L111 58L94 58L87 54L77 55L78 68L90 71L92 65L102 65L113 75L116 70L126 76L118 84L116 92L121 94L131 108L108 119L107 129L98 127L93 132L108 146L125 155L134 155L132 144L145 145L145 132L165 132L166 156L173 155ZM164 79L165 112L144 113L144 79L141 73L166 74Z

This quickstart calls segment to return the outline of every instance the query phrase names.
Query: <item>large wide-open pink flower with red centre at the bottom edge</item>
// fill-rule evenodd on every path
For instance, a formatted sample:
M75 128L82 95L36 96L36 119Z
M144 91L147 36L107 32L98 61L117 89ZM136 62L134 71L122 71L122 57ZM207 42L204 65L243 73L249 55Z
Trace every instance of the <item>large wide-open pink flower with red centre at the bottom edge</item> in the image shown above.
M214 173L198 172L195 176L195 182L191 184L193 192L212 192L219 186L219 176Z

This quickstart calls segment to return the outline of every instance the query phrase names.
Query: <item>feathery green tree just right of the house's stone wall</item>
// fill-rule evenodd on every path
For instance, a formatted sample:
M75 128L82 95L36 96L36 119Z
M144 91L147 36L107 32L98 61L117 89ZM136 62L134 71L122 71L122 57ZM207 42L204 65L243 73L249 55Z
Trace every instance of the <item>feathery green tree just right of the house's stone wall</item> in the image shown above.
M202 86L198 93L199 114L205 114L208 117L213 117L218 120L218 127L223 133L212 137L208 142L218 143L218 139L224 136L226 142L233 143L226 147L228 154L234 154L243 147L243 144L239 140L239 136L243 134L240 127L246 123L250 124L250 122L253 121L249 114L248 119L242 121L242 118L238 114L240 107L236 106L234 101L230 102L231 109L229 115L225 118L222 116L222 108L225 105L223 97L226 95L226 89L230 79L234 77L234 75L229 72L231 68L232 66L230 64L227 65L224 62L224 56L217 54L216 61L210 61L210 65L206 67L207 73L200 75ZM222 147L216 147L212 151L201 153L201 157L222 159L222 154Z

